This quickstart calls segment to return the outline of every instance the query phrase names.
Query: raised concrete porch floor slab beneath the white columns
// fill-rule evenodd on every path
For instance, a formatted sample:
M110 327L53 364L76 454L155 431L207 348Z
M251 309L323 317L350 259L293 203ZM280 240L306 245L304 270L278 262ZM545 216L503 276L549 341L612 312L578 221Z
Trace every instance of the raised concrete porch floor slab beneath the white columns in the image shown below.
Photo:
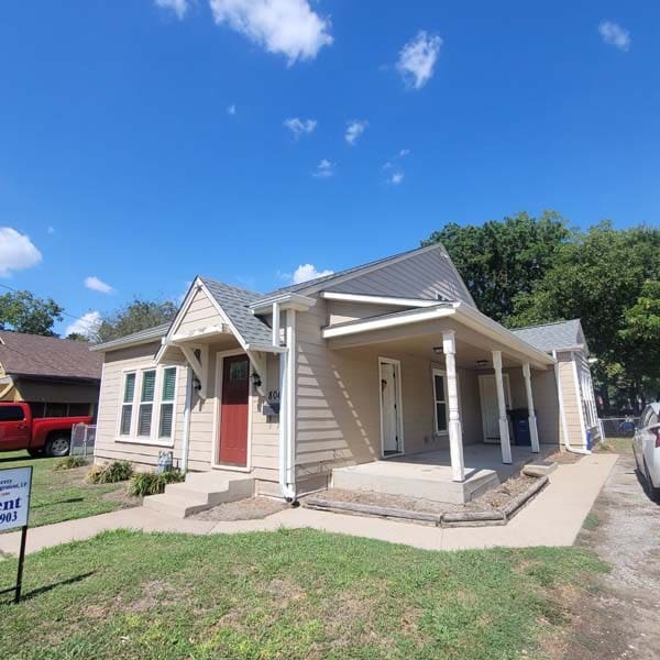
M505 465L499 444L466 444L463 447L464 482L451 479L449 450L437 450L336 468L332 471L332 486L465 504L519 474L526 463L542 461L558 450L554 444L541 444L540 449L539 453L532 453L529 447L514 446L513 463Z

